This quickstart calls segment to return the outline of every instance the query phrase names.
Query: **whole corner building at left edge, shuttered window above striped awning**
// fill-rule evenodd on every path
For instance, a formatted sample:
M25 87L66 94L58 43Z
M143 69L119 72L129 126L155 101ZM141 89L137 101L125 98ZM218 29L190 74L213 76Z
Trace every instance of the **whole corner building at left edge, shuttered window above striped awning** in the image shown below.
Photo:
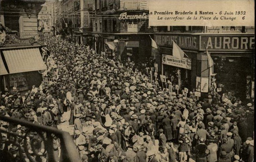
M0 4L0 89L24 92L43 80L41 49L45 46L38 30L38 13L45 1L7 1ZM7 28L6 28L7 27Z

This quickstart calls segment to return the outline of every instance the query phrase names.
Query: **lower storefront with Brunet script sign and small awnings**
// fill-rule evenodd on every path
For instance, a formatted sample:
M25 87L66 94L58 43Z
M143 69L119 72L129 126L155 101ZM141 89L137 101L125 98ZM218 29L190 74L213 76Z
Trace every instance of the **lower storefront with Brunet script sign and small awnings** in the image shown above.
M129 57L131 61L151 56L151 49L148 48L151 46L148 11L117 11L94 23L92 35L93 44L96 42L95 47L98 46L97 53L105 53L107 57L119 60Z

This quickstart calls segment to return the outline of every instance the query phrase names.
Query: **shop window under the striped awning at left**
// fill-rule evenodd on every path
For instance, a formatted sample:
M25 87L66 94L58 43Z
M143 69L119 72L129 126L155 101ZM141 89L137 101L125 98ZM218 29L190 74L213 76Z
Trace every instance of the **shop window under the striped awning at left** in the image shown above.
M17 87L18 91L23 91L28 89L27 84L27 76L24 73L16 73L16 74L10 74L10 87Z

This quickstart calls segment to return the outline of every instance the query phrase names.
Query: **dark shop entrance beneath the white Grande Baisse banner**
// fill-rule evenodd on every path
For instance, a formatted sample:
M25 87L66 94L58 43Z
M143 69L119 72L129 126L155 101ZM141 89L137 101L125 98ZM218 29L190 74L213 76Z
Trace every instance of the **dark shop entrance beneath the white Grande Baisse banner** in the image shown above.
M180 89L184 89L185 87L191 90L190 82L191 82L191 70L179 68L171 65L163 64L163 72L166 76L166 80L170 80L173 85L178 85L178 69L180 70L181 76L181 87Z

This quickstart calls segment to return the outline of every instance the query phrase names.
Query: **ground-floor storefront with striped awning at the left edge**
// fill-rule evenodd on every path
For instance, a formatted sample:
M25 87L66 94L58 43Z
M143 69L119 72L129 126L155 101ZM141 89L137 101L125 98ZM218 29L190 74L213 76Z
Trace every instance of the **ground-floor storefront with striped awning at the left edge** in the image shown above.
M4 46L0 47L1 91L16 87L18 92L23 93L33 85L39 87L41 84L42 70L46 70L47 67L40 49L45 45L31 45L33 40L33 38L21 39L15 34L6 37Z

